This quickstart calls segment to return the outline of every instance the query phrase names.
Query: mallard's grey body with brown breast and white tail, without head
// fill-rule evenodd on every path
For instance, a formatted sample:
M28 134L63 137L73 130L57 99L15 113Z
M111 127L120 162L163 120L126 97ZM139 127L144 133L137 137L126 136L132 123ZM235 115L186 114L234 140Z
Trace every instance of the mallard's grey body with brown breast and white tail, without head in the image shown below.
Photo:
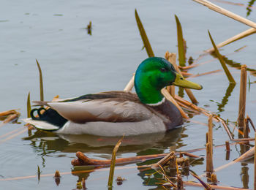
M51 123L51 118L48 121L28 118L26 122L38 129L61 134L106 137L148 134L165 132L183 122L176 106L168 100L163 99L161 104L156 105L142 104L136 94L124 91L88 94L61 102L37 103L47 104L67 122L62 126Z

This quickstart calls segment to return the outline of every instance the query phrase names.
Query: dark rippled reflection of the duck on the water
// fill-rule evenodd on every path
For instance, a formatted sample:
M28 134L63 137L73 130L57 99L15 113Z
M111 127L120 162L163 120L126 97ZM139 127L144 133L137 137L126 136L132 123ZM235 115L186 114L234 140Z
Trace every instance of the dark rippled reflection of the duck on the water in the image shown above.
M168 148L171 151L175 151L176 148L184 146L182 138L187 137L186 134L182 134L184 130L186 130L185 127L179 127L170 132L124 137L117 156L121 157L123 153L135 153L132 156L158 154L164 153ZM119 139L120 137L100 137L88 134L54 134L41 130L38 130L30 137L24 138L24 140L31 140L31 147L42 156L43 162L45 161L45 156L56 156L57 152L61 152L58 153L58 156L67 156L67 153L76 153L77 151L81 151L89 157L91 153L98 153L99 159L111 159L113 147ZM156 160L152 161L155 162ZM91 166L75 167L73 171L86 170L86 172L72 172L72 175L78 176L79 181L83 178L86 180L94 169ZM146 184L148 179L145 176L145 172L150 173L151 170L139 170L138 175L143 178L143 183Z

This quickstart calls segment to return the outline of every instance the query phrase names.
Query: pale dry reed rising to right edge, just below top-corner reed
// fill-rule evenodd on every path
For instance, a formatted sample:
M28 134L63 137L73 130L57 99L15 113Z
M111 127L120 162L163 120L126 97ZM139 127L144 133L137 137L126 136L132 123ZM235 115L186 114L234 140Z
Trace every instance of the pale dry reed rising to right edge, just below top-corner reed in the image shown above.
M244 38L244 37L248 37L251 34L254 34L256 32L255 28L249 28L246 31L241 32L240 34L237 34L234 37L231 37L230 39L225 40L224 42L219 43L218 45L216 45L217 48L219 47L223 47L225 45L228 45L232 42L235 42L238 39ZM206 53L211 53L214 52L214 47L211 47L210 49L206 50Z

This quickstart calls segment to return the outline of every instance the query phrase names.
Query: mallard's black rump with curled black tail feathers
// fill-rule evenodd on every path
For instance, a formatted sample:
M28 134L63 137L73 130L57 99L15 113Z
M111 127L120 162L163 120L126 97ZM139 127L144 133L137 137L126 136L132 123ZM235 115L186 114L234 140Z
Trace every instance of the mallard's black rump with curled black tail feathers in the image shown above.
M41 112L42 110L44 110L43 113ZM34 116L34 112L36 111L38 117ZM59 127L62 127L65 123L67 123L67 119L63 118L61 115L59 115L59 113L56 112L56 110L51 108L45 109L44 107L40 107L38 109L33 109L31 110L30 115L33 120L46 121Z

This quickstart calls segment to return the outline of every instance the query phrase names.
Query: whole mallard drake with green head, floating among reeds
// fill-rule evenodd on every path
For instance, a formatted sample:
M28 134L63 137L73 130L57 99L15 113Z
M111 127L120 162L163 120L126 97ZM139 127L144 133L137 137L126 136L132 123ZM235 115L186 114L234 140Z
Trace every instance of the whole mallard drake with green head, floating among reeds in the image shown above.
M170 85L202 89L179 75L165 58L152 57L135 72L136 94L107 91L59 102L36 102L50 108L31 110L31 118L25 121L61 134L110 137L165 132L183 123L177 107L161 94L161 89Z

